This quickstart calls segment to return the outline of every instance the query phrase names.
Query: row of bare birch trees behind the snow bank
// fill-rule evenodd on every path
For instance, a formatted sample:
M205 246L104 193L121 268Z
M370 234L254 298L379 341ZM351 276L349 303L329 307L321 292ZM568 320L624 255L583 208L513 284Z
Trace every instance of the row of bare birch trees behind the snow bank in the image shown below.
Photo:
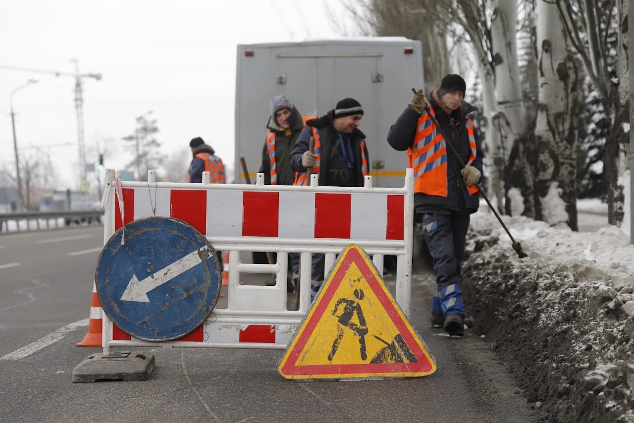
M629 0L351 0L359 30L423 45L427 91L475 72L486 189L507 214L565 222L576 200L624 216ZM471 95L470 95L471 94ZM564 212L562 212L564 211Z

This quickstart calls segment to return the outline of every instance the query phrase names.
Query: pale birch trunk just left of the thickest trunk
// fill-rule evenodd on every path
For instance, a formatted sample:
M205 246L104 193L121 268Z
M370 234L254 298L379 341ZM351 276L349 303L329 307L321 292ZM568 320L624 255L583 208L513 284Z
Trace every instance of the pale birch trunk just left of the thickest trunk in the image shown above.
M511 204L508 191L518 188L524 207L523 214L534 217L533 184L526 171L526 145L521 137L526 130L526 108L522 98L522 86L517 62L517 6L515 1L495 0L491 17L492 56L495 63L498 113L493 124L500 133L505 169L505 209L508 214L517 207ZM514 154L514 157L511 157ZM513 168L511 168L511 166ZM522 175L517 177L517 175ZM517 198L514 196L512 198ZM515 200L514 201L518 201Z

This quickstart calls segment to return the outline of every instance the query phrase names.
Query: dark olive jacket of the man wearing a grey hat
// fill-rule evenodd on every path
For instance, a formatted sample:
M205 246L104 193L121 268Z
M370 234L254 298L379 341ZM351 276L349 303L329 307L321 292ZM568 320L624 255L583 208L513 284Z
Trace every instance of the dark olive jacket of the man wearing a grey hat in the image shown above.
M269 117L268 124L266 125L266 129L275 133L277 185L293 185L293 181L295 180L295 171L288 166L288 157L290 156L290 150L292 150L297 142L297 138L299 138L299 134L304 127L302 115L299 114L295 107L291 110L289 122L292 122L290 135L285 134L286 130L278 126L273 117ZM264 183L269 185L271 183L271 159L266 146L266 140L264 140L264 148L262 148L262 164L259 172L264 173Z

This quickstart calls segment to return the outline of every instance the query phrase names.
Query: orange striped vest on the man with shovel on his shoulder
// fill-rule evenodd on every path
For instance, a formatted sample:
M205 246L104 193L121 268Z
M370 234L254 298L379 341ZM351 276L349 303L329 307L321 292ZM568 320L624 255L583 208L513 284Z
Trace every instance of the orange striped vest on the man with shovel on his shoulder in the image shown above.
M430 113L436 117L434 110ZM475 160L477 150L475 148L474 124L468 117L466 129L469 135L469 161ZM414 169L414 192L422 192L427 195L439 195L447 197L447 141L440 133L428 114L418 119L417 131L413 145L407 149L408 166ZM470 194L477 193L475 186L467 186Z

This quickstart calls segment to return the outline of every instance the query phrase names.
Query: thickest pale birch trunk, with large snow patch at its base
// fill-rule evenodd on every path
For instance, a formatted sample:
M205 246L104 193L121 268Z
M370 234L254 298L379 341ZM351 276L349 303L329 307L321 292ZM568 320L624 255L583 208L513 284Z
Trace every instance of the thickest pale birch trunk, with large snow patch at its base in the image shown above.
M579 114L578 70L567 52L567 36L555 4L537 4L539 105L534 145L535 219L566 222L578 230L576 148Z

